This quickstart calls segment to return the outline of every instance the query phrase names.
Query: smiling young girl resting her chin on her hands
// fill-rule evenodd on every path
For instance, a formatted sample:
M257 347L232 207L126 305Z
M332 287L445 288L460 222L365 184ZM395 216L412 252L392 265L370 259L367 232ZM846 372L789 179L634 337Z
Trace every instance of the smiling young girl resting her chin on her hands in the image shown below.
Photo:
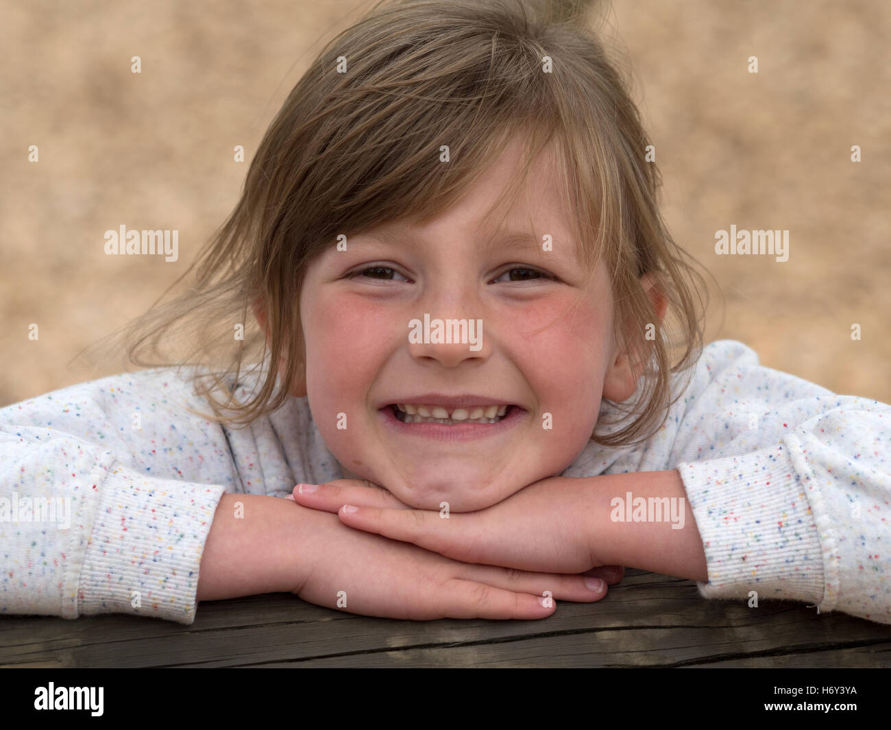
M4 612L538 619L628 565L891 622L891 407L701 346L638 112L556 7L388 2L320 53L127 333L156 366L0 410Z

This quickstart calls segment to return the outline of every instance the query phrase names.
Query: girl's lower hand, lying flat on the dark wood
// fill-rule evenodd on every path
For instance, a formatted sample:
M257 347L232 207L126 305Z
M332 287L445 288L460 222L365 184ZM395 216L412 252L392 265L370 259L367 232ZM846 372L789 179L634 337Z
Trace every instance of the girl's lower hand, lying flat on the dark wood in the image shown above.
M394 504L373 491L377 504ZM607 594L598 578L470 565L294 507L306 514L290 591L309 603L393 619L544 619L553 599L593 603Z

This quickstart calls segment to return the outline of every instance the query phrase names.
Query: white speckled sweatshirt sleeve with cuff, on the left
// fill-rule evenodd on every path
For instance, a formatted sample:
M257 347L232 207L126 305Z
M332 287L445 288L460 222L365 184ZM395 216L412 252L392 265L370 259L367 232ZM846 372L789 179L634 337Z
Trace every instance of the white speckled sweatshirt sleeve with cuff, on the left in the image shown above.
M0 613L191 624L225 487L137 463L91 385L0 410Z

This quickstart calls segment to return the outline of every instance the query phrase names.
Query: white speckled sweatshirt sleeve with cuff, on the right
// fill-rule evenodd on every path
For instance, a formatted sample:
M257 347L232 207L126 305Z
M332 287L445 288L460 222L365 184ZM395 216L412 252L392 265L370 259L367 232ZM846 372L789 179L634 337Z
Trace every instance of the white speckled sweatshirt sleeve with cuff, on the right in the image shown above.
M684 399L672 463L706 598L782 598L891 623L891 406L838 396L719 340Z

